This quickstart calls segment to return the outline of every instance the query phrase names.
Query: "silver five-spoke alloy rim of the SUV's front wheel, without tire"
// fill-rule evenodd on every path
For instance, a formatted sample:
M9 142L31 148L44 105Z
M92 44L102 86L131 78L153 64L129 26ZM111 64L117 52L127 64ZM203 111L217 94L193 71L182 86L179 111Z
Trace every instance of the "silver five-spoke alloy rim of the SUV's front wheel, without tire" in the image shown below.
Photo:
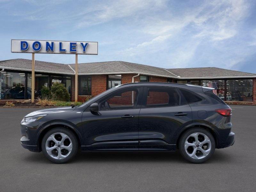
M68 135L57 132L53 133L45 143L45 149L49 156L54 159L64 159L72 151L72 141Z

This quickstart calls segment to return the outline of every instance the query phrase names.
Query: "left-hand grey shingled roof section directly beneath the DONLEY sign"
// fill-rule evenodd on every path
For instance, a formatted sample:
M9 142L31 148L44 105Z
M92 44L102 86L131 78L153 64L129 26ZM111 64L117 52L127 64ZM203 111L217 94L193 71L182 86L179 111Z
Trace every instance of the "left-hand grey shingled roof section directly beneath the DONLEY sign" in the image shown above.
M31 71L31 60L11 59L0 61L0 68ZM60 74L74 74L74 71L65 64L35 61L35 71Z

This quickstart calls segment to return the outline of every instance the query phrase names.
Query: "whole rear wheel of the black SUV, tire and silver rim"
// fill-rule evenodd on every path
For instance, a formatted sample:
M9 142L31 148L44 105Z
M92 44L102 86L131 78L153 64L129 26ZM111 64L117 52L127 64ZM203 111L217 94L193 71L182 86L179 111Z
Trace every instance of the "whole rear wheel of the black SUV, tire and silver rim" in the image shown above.
M181 155L192 163L203 163L215 150L215 140L210 132L203 128L192 128L184 132L179 140Z

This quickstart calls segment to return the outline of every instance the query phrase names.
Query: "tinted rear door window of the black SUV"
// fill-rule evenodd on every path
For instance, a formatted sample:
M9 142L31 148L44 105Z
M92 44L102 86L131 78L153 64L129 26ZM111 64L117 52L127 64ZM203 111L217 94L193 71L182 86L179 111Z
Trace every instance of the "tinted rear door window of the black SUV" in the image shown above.
M149 87L146 107L170 107L180 105L180 95L169 87Z

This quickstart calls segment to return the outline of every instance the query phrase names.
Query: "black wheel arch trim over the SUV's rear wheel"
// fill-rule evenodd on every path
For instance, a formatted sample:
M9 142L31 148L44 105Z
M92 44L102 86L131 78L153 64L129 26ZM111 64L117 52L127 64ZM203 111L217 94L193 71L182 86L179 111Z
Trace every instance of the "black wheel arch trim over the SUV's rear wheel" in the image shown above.
M191 129L191 128L194 128L194 127L200 127L200 128L203 128L207 131L209 131L214 140L215 140L215 144L216 144L216 147L218 146L218 143L219 143L219 133L215 131L215 129L208 125L208 124L204 124L204 123L193 123L193 124L189 124L187 126L185 126L183 129L180 130L180 132L177 133L176 137L175 137L175 140L174 140L174 143L176 143L176 147L179 148L178 146L178 143L179 143L179 140L180 140L180 137L181 135L186 132L188 129Z

